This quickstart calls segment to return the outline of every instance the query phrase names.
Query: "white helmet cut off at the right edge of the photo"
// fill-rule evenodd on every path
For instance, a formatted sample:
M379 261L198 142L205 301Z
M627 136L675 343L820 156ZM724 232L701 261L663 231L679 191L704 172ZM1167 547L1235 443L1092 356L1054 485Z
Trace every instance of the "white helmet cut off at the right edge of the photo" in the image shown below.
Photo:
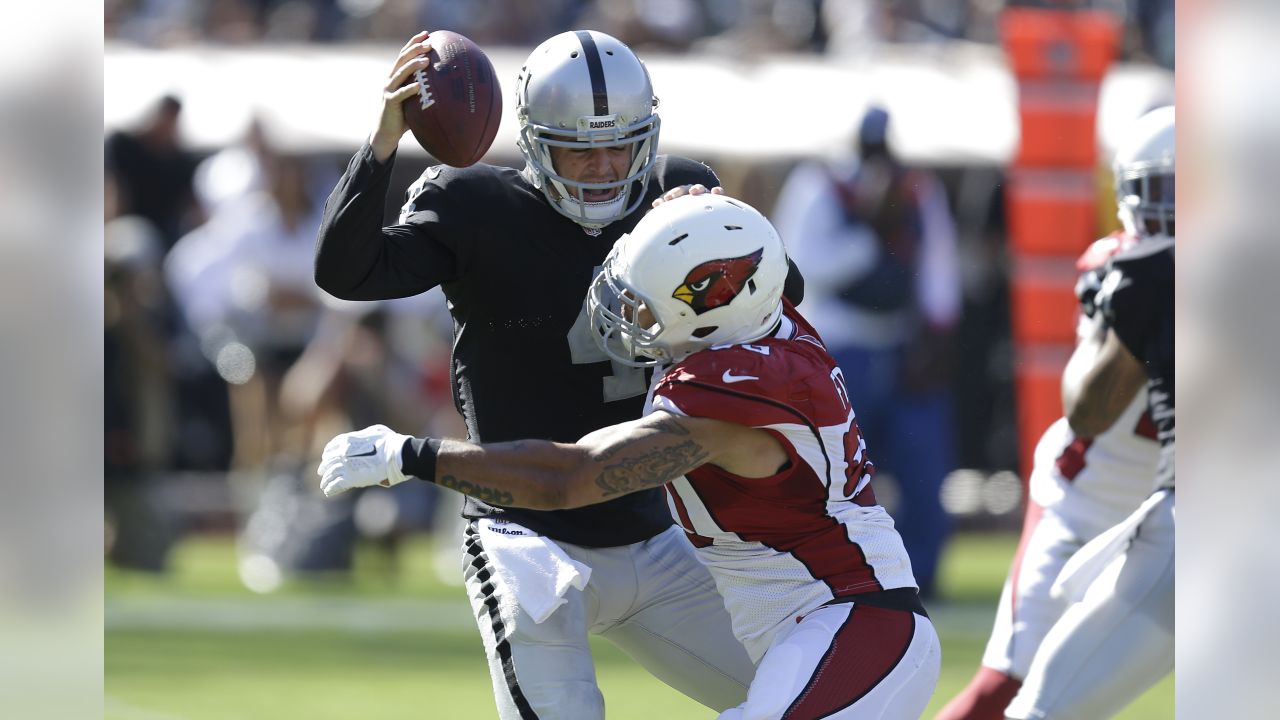
M1116 150L1116 215L1134 237L1174 236L1174 106L1134 120Z

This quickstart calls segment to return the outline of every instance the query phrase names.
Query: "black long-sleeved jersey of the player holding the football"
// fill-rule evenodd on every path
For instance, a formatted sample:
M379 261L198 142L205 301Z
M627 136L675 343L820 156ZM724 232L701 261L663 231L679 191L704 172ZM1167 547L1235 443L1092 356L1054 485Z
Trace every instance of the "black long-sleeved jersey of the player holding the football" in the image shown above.
M384 228L390 165L379 164L367 145L352 158L325 205L316 283L347 300L443 286L454 320L453 395L468 439L575 442L639 418L645 370L612 363L595 346L586 290L653 199L684 184L719 184L710 168L658 156L641 210L593 236L556 211L524 173L485 164L429 168L411 188L401 223ZM593 547L639 542L671 525L658 488L553 511L467 498L463 512L502 512L548 537Z

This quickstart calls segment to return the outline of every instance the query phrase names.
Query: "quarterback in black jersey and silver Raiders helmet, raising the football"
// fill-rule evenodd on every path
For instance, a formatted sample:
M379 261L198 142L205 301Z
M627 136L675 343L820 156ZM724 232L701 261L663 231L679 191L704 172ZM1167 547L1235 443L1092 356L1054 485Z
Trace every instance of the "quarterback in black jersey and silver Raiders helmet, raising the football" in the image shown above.
M471 441L572 442L639 418L645 370L595 346L582 292L652 200L718 186L716 174L658 155L658 100L626 45L564 32L517 79L524 170L429 168L384 228L401 104L417 88L404 83L429 47L422 32L401 50L379 124L329 197L316 283L346 300L443 287L454 401ZM799 274L790 279L799 302ZM753 664L660 489L559 511L468 498L463 512L463 575L504 720L603 717L588 633L703 705L742 702Z

